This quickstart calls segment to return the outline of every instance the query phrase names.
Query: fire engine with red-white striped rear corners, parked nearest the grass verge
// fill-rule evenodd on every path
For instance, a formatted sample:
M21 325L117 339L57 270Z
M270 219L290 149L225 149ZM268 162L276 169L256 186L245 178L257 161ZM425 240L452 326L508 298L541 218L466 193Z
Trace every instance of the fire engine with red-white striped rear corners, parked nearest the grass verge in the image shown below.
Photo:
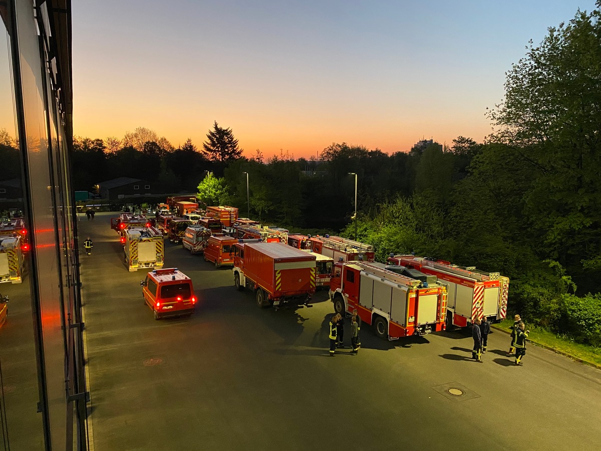
M438 283L447 287L447 329L452 325L466 327L484 316L499 322L507 314L509 279L498 272L482 272L413 255L389 257L388 262L435 275Z

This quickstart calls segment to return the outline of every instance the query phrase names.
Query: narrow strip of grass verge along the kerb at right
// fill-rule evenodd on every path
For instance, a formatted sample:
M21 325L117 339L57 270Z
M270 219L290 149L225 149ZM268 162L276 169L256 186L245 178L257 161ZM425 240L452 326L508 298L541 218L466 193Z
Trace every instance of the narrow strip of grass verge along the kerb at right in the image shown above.
M500 328L504 331L510 331L511 326L513 326L513 319L504 319L499 324L493 325L493 327ZM530 330L528 336L529 342L601 369L601 349L593 348L593 346L581 345L581 343L576 343L568 337L558 336L557 334L546 331L540 327L529 326L526 324L526 329Z

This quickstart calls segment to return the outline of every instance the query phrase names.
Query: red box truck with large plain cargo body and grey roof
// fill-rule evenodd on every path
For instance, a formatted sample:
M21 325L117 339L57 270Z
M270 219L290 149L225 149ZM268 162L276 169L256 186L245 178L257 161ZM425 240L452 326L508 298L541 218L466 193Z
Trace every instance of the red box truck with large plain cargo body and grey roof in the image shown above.
M255 291L260 308L307 305L315 292L316 257L284 243L238 243L234 285Z

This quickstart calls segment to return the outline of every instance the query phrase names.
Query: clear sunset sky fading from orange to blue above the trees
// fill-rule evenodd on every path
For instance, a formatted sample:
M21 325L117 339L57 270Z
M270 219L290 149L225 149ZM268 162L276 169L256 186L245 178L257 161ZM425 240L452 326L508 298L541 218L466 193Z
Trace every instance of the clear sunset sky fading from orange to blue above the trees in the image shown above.
M147 127L198 147L217 121L246 156L346 142L482 141L505 71L594 0L79 0L75 135Z

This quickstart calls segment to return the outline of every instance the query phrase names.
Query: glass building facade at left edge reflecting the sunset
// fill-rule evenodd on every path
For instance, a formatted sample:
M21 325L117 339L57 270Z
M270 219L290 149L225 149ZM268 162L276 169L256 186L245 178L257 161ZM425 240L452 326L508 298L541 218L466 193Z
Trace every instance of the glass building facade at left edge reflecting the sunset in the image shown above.
M23 282L0 284L10 297L0 328L0 450L85 450L88 391L69 166L71 2L4 0L0 16L0 140L8 155L0 171L11 174L0 180L20 174L11 184L21 197L10 201L23 212L31 248Z

